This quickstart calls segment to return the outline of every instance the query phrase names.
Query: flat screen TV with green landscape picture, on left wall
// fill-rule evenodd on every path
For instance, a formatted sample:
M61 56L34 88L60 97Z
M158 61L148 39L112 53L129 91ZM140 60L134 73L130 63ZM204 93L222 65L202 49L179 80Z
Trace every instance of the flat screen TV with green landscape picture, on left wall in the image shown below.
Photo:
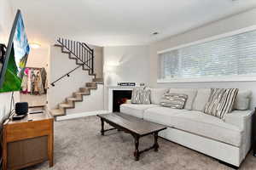
M20 10L17 11L6 53L0 64L0 93L20 91L30 47Z

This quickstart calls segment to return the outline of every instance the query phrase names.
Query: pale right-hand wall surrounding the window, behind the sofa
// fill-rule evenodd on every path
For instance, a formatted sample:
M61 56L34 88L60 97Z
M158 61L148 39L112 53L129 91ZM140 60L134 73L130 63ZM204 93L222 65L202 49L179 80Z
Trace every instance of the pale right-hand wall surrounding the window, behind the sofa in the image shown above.
M256 25L256 9L218 20L207 26L201 26L177 36L166 38L150 45L150 85L152 87L175 88L245 88L253 91L252 107L256 105L256 82L184 82L184 83L157 83L157 51L173 48L181 44L195 42L207 37L216 36L229 31Z

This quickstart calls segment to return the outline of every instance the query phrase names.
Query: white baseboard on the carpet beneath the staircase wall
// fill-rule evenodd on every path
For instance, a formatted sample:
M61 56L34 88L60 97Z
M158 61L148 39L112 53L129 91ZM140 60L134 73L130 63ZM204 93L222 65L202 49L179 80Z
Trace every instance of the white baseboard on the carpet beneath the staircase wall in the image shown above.
M65 116L56 116L55 120L56 121L65 121L68 119L77 119L80 117L84 116L95 116L95 115L100 115L100 114L107 114L109 111L87 111L83 113L73 113Z

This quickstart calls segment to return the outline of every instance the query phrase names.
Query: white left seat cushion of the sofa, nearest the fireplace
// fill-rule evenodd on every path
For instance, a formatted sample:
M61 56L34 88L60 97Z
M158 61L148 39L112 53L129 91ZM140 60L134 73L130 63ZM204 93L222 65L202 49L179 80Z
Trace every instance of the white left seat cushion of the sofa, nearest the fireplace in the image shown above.
M123 104L120 105L120 112L125 113L126 115L136 116L143 118L143 113L148 108L158 107L159 105L137 105L137 104Z

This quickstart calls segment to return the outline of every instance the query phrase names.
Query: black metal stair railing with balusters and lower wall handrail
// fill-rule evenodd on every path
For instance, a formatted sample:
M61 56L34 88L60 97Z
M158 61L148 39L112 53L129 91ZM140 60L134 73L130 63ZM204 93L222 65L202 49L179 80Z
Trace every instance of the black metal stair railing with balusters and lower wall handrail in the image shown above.
M93 71L94 70L94 49L90 48L84 42L76 42L76 41L72 41L72 40L60 38L60 37L57 39L57 42L59 42L59 44L61 45L62 52L63 52L63 49L65 48L66 49L65 51L67 51L67 53L69 53L69 54L73 54L72 57L78 59L80 61L81 65L79 65L72 71L67 72L60 78L56 79L54 82L51 82L50 84L52 86L55 86L55 82L60 81L62 78L69 77L70 73L77 70L80 66L83 66L83 68L85 67L86 69L88 69L89 74L93 74L93 72L94 72Z

